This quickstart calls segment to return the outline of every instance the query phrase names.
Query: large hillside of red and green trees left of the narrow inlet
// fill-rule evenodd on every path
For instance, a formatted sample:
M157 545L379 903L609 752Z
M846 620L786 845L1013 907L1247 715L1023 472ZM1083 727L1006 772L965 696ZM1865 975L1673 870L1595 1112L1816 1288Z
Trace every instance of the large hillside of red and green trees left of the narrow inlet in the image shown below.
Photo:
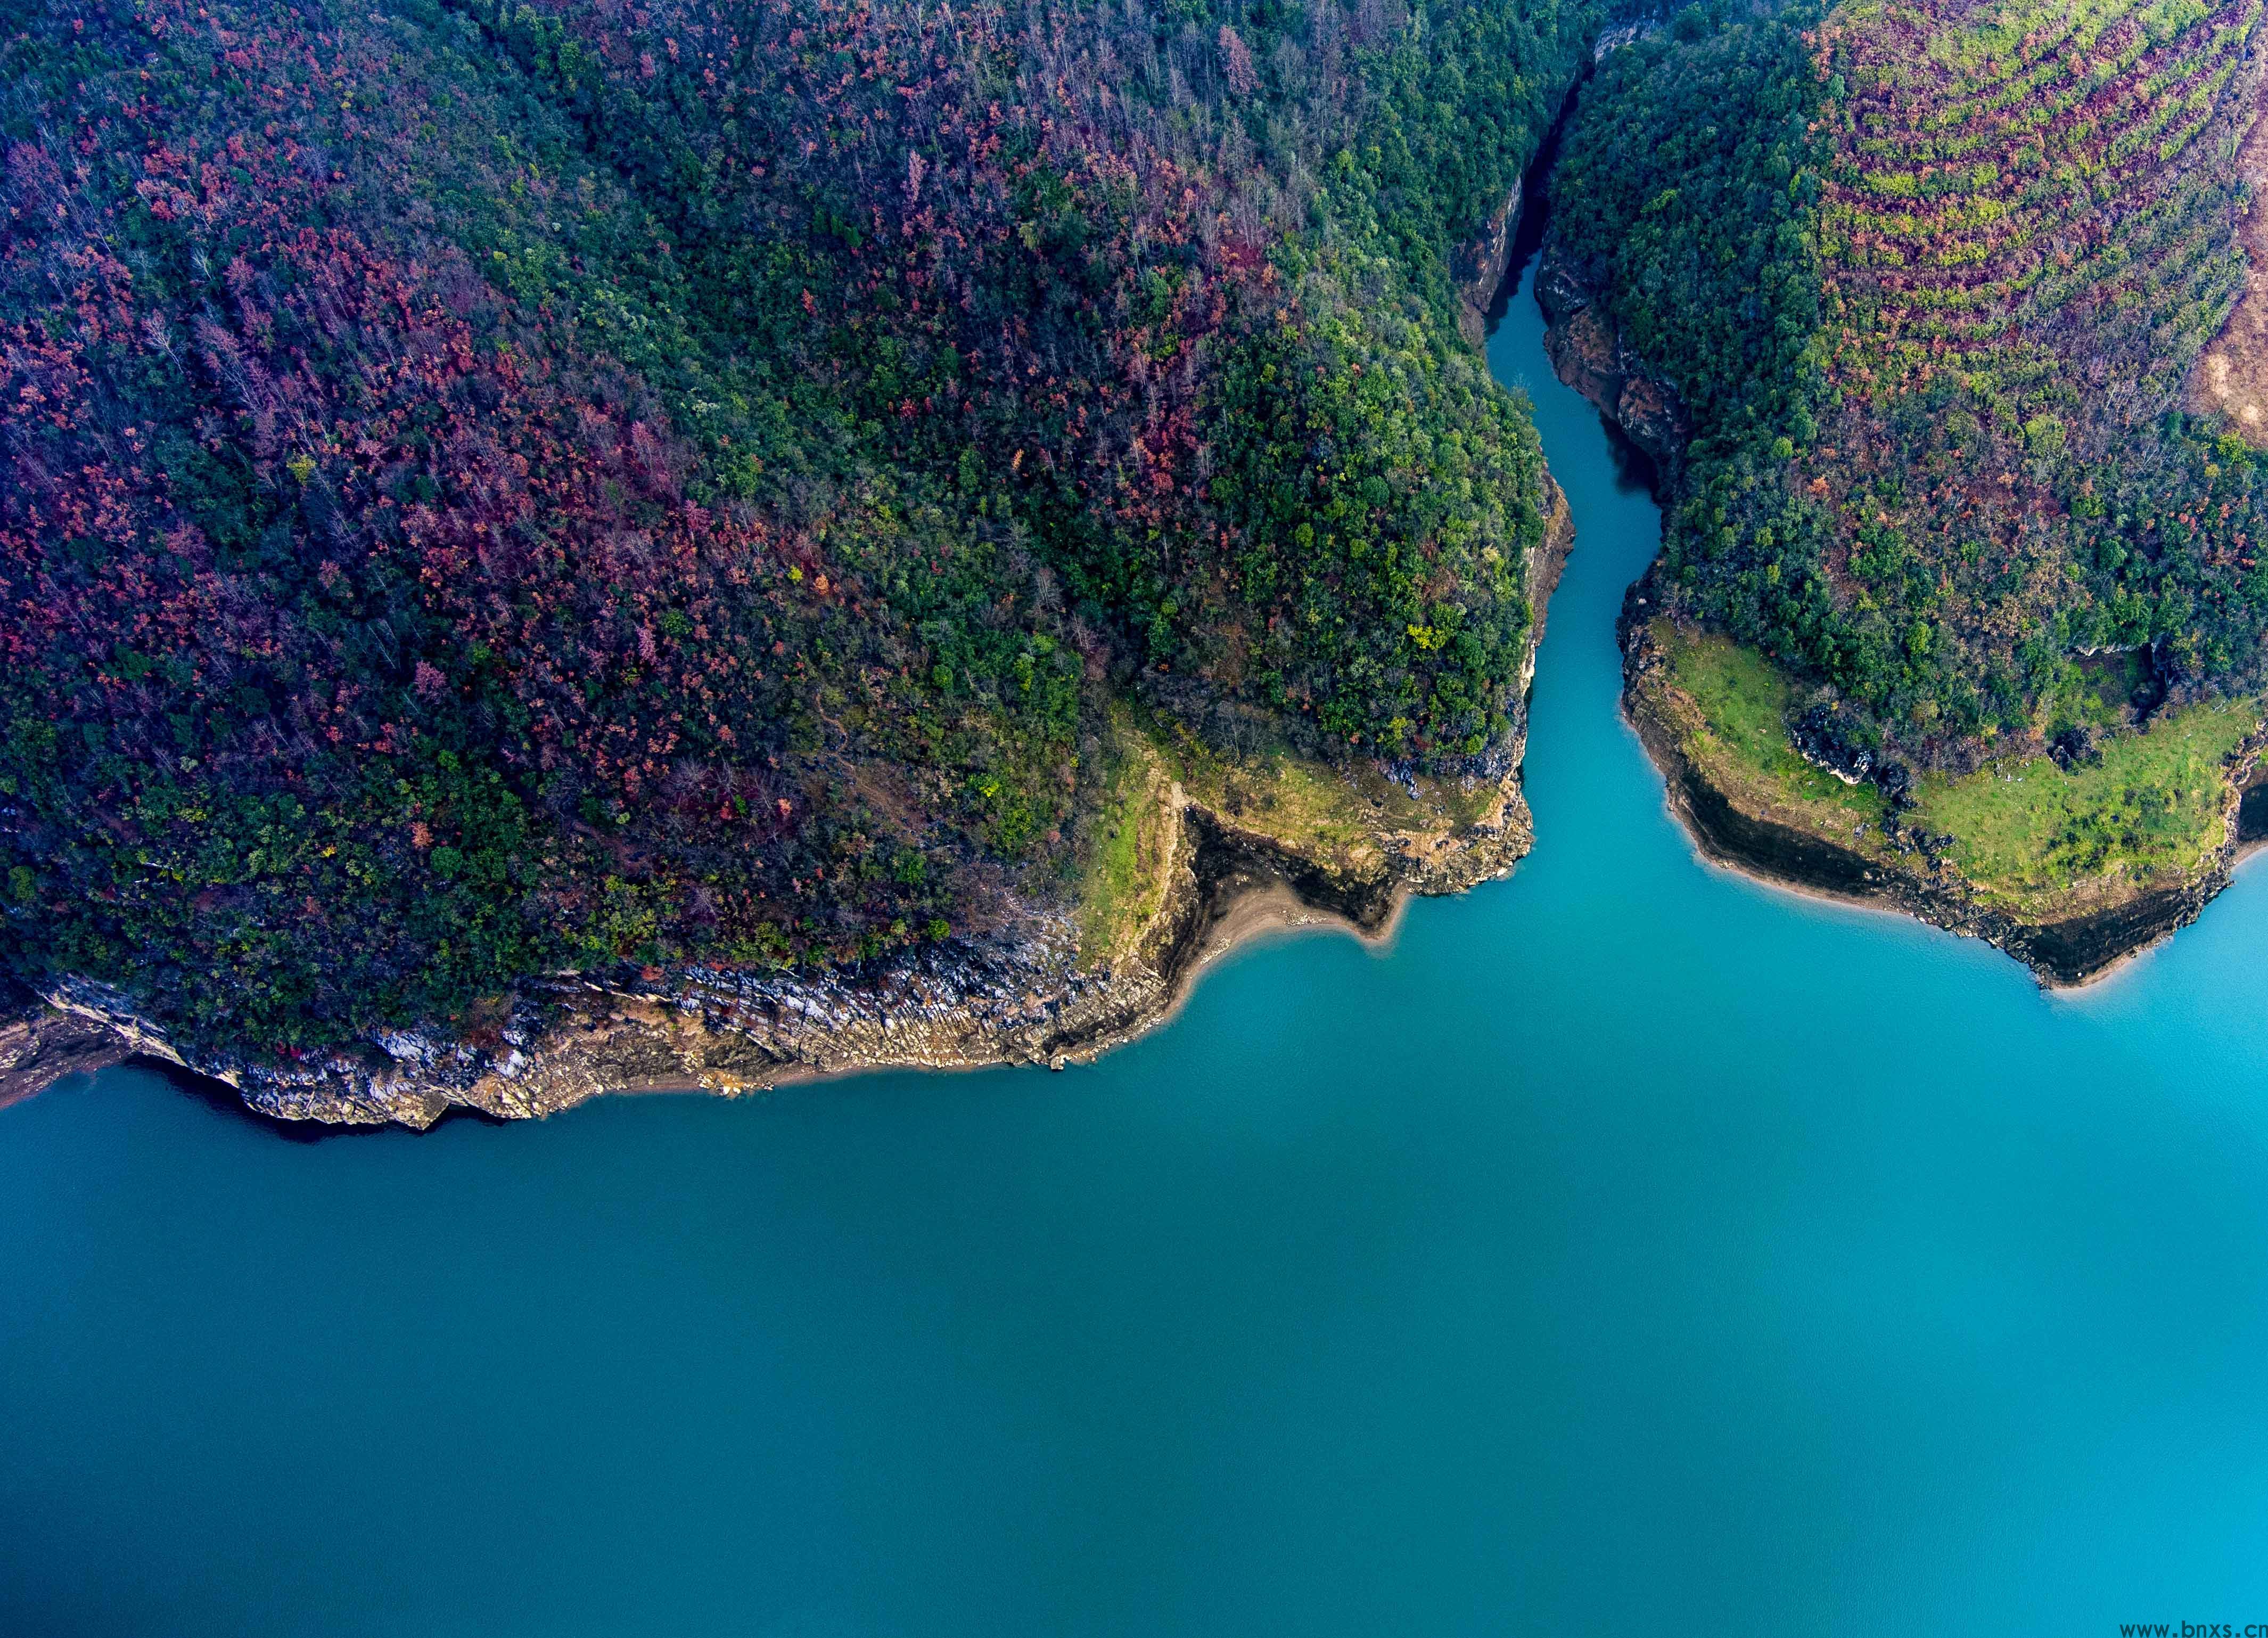
M14 0L0 960L299 1050L982 932L1136 685L1486 765L1447 259L1597 20Z

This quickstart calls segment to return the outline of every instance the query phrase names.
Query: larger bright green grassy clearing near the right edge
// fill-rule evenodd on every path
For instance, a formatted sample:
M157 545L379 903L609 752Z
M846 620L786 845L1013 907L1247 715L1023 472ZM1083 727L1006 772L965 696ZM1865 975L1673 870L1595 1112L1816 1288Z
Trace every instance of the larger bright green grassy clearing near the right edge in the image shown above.
M2195 876L2227 839L2227 758L2259 701L2189 706L2100 746L2068 774L2046 755L1923 778L1914 824L1953 837L1955 869L2012 910L2073 887Z

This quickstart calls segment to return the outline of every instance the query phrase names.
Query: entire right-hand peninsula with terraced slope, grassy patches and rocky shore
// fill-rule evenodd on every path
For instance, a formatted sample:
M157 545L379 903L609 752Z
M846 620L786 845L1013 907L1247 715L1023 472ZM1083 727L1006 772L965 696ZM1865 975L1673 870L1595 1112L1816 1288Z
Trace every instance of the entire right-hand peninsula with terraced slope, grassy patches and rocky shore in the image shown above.
M1710 853L2053 982L2227 883L2268 687L2259 23L1687 9L1601 64L1542 297L1662 463L1626 706Z

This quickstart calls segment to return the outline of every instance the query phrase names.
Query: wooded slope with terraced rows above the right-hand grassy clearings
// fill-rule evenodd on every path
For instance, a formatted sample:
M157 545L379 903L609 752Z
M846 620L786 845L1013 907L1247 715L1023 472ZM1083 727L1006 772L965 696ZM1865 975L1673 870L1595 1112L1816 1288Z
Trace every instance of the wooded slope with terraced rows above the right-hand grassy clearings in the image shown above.
M2245 284L2259 18L1690 9L1585 93L1560 250L1694 431L1658 585L1846 758L2259 690L2268 470L2182 411Z

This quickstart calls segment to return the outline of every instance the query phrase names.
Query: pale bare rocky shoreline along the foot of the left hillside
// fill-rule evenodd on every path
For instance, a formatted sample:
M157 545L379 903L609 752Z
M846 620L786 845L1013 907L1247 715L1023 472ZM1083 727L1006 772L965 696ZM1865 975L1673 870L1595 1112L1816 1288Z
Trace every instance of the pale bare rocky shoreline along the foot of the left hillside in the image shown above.
M1547 479L1549 483L1549 479ZM1572 542L1567 504L1529 560L1538 617ZM424 1130L456 1109L547 1116L610 1091L742 1094L855 1069L971 1069L1086 1059L1163 1019L1204 960L1256 923L1340 921L1379 935L1411 894L1501 876L1533 828L1520 794L1524 701L1472 824L1372 821L1356 848L1300 848L1170 790L1159 910L1107 966L1082 964L1061 910L1027 907L1014 935L955 939L832 973L685 966L649 980L560 973L533 980L451 1030L388 1030L297 1059L184 1053L86 980L0 1007L0 1103L125 1057L175 1064L229 1087L272 1121ZM1295 910L1254 919L1288 889ZM1304 910L1302 910L1304 907Z

